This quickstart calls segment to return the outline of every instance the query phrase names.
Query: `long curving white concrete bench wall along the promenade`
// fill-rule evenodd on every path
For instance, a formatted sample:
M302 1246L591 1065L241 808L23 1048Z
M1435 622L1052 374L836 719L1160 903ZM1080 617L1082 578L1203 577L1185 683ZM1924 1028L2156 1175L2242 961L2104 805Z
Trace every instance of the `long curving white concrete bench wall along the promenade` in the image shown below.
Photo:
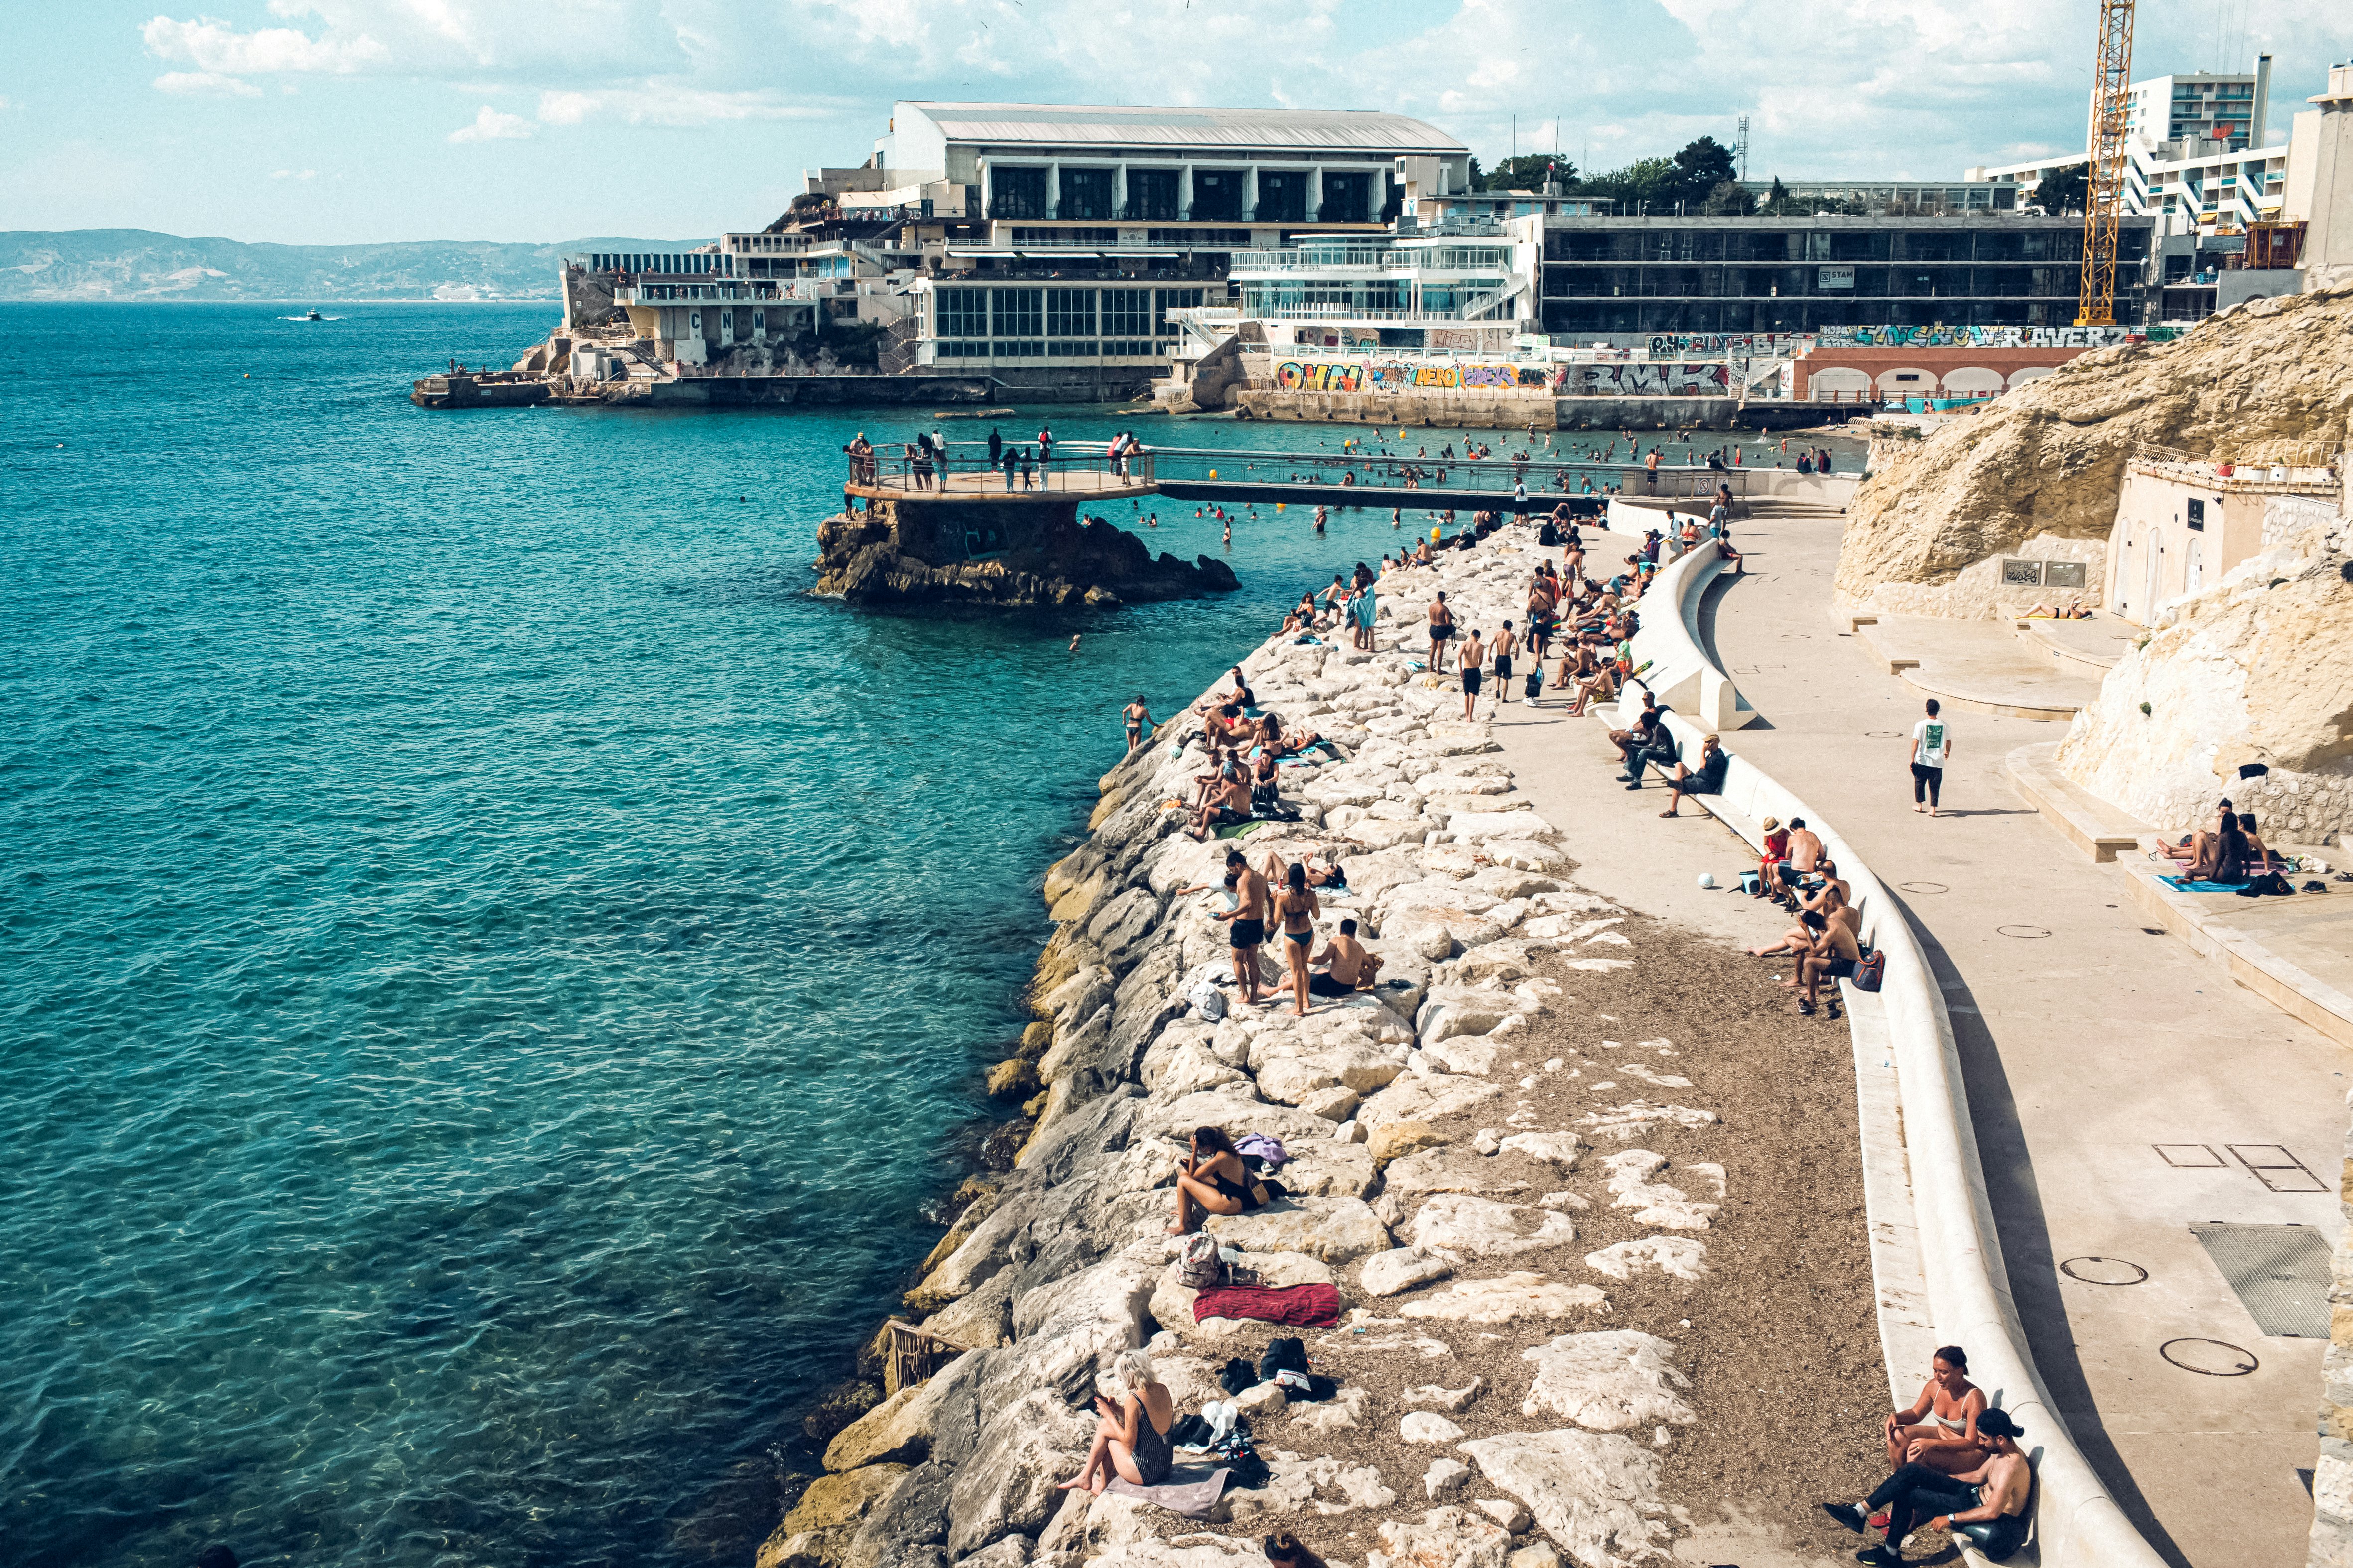
M1642 637L1649 639L1657 670L1678 672L1675 689L1711 691L1706 679L1689 670L1706 665L1697 635L1699 595L1706 590L1708 545L1694 550L1673 567L1659 571L1659 581L1642 597L1654 616L1645 621ZM1678 567L1697 562L1675 574ZM1715 562L1720 567L1720 562ZM1675 574L1675 576L1671 576ZM1661 592L1678 595L1680 614L1657 614L1668 607ZM1635 642L1642 649L1642 642ZM1635 661L1640 663L1640 658ZM1722 672L1715 670L1722 682ZM1729 682L1713 686L1727 691ZM1666 701L1666 686L1657 689ZM1699 752L1699 738L1708 729L1725 729L1706 717L1694 724L1680 703L1668 717L1685 757ZM1640 712L1635 698L1621 705L1621 724L1631 724ZM1729 750L1729 748L1727 748ZM1715 809L1715 799L1694 797ZM1993 1201L1986 1197L1986 1173L1977 1154L1977 1133L1969 1124L1969 1095L1960 1077L1960 1056L1953 1048L1953 1025L1944 1011L1944 992L1929 971L1927 954L1913 938L1901 905L1887 893L1859 853L1840 837L1838 827L1777 778L1732 757L1725 771L1725 792L1718 816L1758 844L1758 823L1777 816L1784 823L1802 816L1807 827L1821 835L1824 846L1838 860L1838 870L1854 886L1854 903L1864 917L1864 940L1887 954L1887 973L1875 997L1849 992L1849 1027L1857 1034L1859 1065L1885 1048L1894 1063L1897 1093L1901 1098L1901 1124L1887 1128L1885 1119L1871 1117L1871 1084L1861 1084L1864 1095L1864 1166L1866 1185L1873 1185L1873 1274L1880 1291L1880 1338L1887 1356L1889 1382L1899 1385L1908 1399L1927 1378L1927 1356L1918 1326L1904 1326L1901 1312L1889 1312L1889 1295L1901 1298L1904 1281L1882 1274L1887 1248L1882 1229L1904 1229L1901 1215L1887 1213L1899 1201L1899 1190L1889 1190L1887 1173L1908 1171L1911 1227L1918 1234L1920 1286L1927 1293L1927 1324L1934 1338L1927 1345L1953 1342L1969 1352L1969 1378L1986 1389L1993 1403L2009 1410L2026 1429L2026 1450L2035 1462L2035 1519L2033 1547L2012 1561L2040 1561L2049 1568L2160 1568L2165 1559L2132 1528L2125 1512L2101 1486L2092 1465L2075 1448L2066 1422L2052 1408L2049 1389L2035 1373L2033 1352L2026 1345L2026 1328L2019 1321L2017 1302L2009 1298L2009 1274L2002 1265L2002 1244L1993 1227ZM1878 1009L1852 1006L1852 1001L1878 1001ZM1885 1020L1885 1039L1880 1039ZM1868 1037L1866 1037L1868 1030ZM1899 1150L1873 1147L1873 1126L1901 1140Z

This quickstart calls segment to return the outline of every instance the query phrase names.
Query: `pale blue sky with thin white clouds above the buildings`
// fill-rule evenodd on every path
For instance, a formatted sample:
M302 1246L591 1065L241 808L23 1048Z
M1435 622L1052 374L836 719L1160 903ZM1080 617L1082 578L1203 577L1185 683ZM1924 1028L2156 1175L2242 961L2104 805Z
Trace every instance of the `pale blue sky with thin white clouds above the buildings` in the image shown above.
M1485 162L1732 143L1755 179L2078 150L2094 0L113 0L7 7L0 228L287 244L713 235L859 165L892 99L1386 108ZM2134 78L2273 54L2346 0L2151 0Z

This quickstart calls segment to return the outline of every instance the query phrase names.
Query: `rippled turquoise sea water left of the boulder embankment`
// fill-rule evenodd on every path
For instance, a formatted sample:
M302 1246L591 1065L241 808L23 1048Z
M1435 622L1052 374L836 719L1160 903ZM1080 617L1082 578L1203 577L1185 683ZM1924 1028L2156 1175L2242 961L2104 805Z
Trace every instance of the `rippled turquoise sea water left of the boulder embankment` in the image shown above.
M428 414L548 310L285 315L0 310L0 1556L748 1561L1120 703L1398 534L859 614L814 529L906 414Z

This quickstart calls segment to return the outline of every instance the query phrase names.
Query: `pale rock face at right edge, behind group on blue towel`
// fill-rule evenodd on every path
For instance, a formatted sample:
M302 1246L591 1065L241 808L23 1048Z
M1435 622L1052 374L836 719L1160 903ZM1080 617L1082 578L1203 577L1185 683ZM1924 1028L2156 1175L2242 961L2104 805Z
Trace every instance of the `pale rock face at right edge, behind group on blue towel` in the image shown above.
M2348 550L2353 522L2334 517L2169 604L2075 715L2061 771L2174 832L2221 795L2273 844L2353 832ZM2254 762L2271 771L2240 778Z

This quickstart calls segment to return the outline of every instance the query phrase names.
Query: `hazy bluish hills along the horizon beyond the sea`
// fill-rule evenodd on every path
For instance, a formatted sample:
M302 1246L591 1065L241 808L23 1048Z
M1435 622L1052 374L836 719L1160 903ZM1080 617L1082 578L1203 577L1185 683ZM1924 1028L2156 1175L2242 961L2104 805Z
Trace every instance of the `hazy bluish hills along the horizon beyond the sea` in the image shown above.
M711 240L405 240L245 244L146 228L0 230L0 301L558 299L555 268L584 252L682 252Z

